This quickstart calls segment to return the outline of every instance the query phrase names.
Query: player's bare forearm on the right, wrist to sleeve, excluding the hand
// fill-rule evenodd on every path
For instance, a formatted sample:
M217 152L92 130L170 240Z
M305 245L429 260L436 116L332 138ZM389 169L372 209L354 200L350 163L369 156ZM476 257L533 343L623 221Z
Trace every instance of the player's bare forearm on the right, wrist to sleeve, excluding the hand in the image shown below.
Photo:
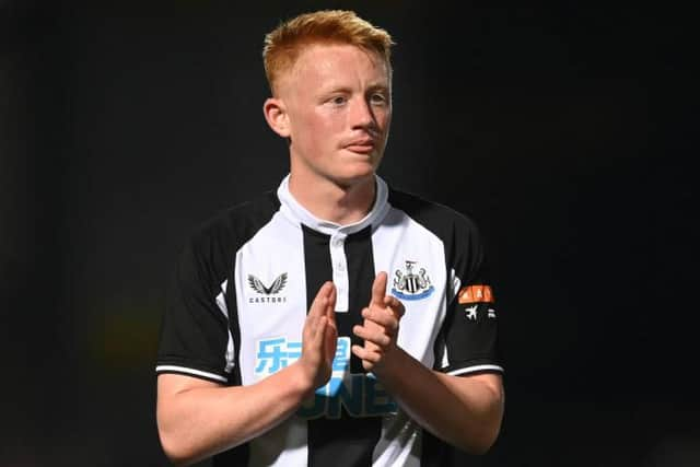
M408 415L442 440L474 454L495 441L503 417L500 375L451 376L400 348L375 375Z

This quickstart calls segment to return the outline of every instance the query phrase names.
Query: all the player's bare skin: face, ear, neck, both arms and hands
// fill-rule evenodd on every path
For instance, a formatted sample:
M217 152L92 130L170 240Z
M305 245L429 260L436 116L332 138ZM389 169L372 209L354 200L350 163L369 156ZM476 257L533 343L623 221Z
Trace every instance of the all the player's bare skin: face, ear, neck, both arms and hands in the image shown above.
M392 118L388 66L350 45L305 49L264 105L270 128L290 139L290 191L316 217L348 224L374 200L374 173ZM503 415L501 376L451 376L424 367L397 346L402 304L380 272L352 352L418 423L472 453L494 442ZM177 374L158 380L158 427L178 465L210 457L276 427L325 385L337 345L336 291L318 291L304 324L302 357L250 386L224 387ZM421 384L415 384L420 381Z

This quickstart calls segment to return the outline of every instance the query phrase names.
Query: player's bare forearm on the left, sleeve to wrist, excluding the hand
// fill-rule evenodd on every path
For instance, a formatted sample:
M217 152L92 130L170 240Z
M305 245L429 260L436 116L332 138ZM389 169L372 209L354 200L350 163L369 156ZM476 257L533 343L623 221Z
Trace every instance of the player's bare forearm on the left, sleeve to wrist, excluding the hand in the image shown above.
M159 377L158 425L163 448L176 464L209 457L270 430L313 394L293 364L250 386L197 386L164 390Z

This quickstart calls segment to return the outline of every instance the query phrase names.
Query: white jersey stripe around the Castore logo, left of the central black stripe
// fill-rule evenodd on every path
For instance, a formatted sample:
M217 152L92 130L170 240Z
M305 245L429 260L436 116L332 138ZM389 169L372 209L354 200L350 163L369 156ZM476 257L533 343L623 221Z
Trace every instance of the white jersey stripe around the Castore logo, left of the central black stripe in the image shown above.
M302 340L306 320L303 245L299 220L290 222L290 218L278 211L236 250L234 276L229 285L230 293L237 297L241 340L237 342L236 365L243 385L260 381L260 375L255 372L261 362L257 355L258 339L283 336L288 341ZM285 253L280 255L280 252ZM283 296L285 303L255 303L259 294L248 287L248 275L269 281L283 272L289 275L289 283L278 296ZM233 310L231 313L231 319L236 319L236 313ZM289 417L250 440L248 447L247 467L305 466L308 464L306 420Z

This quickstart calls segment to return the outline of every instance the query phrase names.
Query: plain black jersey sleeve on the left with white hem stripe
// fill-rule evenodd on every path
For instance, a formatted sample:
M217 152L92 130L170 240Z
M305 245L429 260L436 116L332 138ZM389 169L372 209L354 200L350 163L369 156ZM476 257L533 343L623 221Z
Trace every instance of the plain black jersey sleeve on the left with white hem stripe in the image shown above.
M156 373L179 373L226 384L233 341L225 302L226 273L211 242L192 240L182 252L167 293Z

